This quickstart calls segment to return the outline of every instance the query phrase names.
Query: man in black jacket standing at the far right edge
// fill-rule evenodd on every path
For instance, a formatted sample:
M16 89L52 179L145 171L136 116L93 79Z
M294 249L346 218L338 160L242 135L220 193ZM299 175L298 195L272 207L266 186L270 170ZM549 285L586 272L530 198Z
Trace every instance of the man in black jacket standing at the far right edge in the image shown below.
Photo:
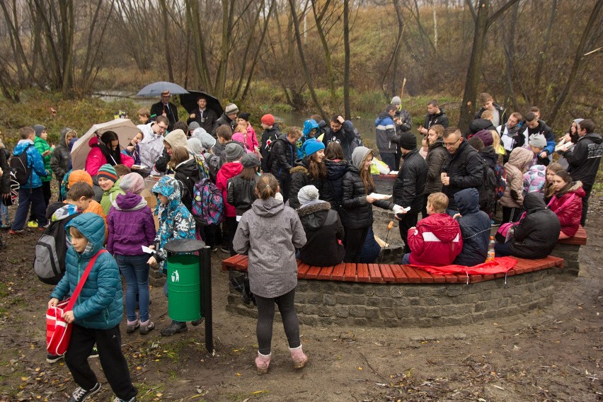
M603 155L603 138L595 131L595 122L590 119L578 123L578 144L563 156L568 160L568 173L573 180L580 180L586 195L582 197L582 219L580 224L586 224L586 213L588 211L588 199L595 184L599 163Z

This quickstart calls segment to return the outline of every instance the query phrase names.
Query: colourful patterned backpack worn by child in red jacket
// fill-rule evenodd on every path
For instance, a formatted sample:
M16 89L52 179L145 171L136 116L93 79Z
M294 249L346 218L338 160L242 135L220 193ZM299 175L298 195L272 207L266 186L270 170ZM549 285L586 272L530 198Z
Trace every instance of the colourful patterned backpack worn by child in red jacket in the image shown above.
M193 188L193 217L203 225L219 224L224 220L222 191L207 178Z

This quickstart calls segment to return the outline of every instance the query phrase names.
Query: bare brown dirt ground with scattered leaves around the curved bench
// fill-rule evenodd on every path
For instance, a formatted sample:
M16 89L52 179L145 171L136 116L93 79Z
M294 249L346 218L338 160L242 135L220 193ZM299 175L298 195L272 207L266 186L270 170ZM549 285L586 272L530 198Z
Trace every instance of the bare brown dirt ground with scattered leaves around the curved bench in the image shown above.
M579 277L558 277L546 309L478 325L444 328L302 326L307 366L292 368L275 323L272 364L255 374L255 321L226 312L224 253L212 255L214 355L204 326L163 338L125 333L139 401L602 401L602 206L592 197L589 241ZM45 362L45 306L51 287L33 275L37 231L2 234L0 251L0 400L66 401L76 387L64 362ZM392 231L390 236L399 236ZM463 286L463 285L459 285ZM469 285L471 286L471 285ZM151 289L158 329L166 298ZM98 359L89 360L113 398ZM112 400L112 399L111 399Z

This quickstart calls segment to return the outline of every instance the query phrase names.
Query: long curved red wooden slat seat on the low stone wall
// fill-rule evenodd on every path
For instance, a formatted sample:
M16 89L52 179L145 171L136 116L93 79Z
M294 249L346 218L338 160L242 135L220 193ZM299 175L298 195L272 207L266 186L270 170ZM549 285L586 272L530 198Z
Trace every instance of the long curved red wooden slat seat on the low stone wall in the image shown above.
M515 258L515 257L514 257ZM563 268L563 258L549 255L539 260L515 258L517 265L507 272L507 276L524 272L534 272L549 268ZM222 261L222 270L247 271L247 255L234 255ZM434 275L427 271L400 264L356 264L340 263L331 267L312 267L297 260L297 278L305 280L331 280L340 282L367 282L373 284L433 284L433 283L476 283L505 277L496 275Z

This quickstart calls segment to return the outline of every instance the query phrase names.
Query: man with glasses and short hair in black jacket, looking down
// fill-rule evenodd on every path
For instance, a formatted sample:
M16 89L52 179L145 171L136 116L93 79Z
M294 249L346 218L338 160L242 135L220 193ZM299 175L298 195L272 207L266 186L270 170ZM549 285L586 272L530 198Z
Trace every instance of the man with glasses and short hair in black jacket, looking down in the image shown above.
M472 187L481 190L484 163L477 151L461 137L461 130L447 130L442 138L449 152L448 160L442 166L442 193L448 196L446 212L453 217L459 212L454 202L456 193Z

